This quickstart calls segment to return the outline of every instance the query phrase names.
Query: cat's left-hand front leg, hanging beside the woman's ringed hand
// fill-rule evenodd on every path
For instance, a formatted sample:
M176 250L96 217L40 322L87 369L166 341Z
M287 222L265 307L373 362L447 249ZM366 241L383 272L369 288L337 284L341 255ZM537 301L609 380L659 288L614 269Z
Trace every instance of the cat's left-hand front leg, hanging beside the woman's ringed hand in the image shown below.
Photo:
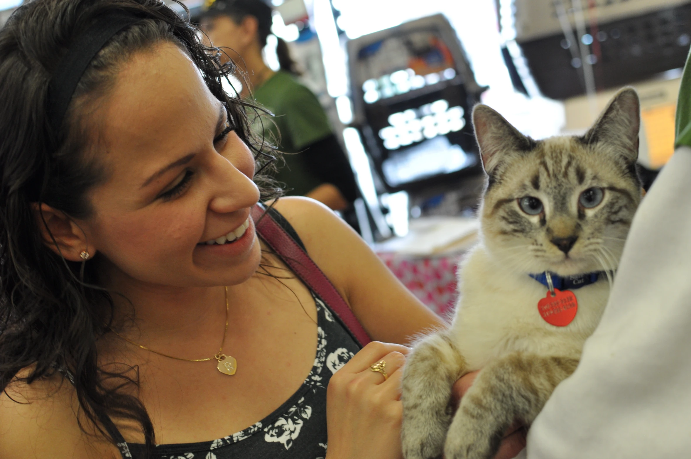
M451 387L464 368L464 359L446 331L427 335L415 344L401 380L401 440L406 459L442 455L451 422Z

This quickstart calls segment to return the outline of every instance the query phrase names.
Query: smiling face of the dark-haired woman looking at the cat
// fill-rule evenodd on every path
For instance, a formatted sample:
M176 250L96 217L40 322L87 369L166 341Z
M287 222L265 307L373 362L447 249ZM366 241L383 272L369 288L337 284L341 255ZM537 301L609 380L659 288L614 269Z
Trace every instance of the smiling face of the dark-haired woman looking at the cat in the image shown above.
M104 282L234 285L254 274L259 199L254 159L198 68L174 44L138 53L94 113L94 149L106 180L89 198L88 243L104 257ZM238 229L240 228L240 229Z

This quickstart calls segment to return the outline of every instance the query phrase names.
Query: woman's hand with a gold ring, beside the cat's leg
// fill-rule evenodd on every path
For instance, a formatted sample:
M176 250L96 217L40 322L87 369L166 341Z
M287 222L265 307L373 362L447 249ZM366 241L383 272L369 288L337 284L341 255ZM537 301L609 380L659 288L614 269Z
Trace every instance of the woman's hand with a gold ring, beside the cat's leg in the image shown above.
M408 348L372 341L334 373L326 393L327 459L401 458L401 366ZM384 360L384 375L370 366Z

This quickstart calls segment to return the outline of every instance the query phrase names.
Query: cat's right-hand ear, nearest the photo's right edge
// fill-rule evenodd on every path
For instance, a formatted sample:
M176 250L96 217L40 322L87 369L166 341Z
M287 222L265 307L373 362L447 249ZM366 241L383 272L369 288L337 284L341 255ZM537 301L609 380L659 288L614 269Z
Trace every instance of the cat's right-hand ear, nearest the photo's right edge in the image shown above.
M616 93L593 127L583 135L587 144L603 143L627 160L638 158L638 130L641 129L641 104L634 88Z

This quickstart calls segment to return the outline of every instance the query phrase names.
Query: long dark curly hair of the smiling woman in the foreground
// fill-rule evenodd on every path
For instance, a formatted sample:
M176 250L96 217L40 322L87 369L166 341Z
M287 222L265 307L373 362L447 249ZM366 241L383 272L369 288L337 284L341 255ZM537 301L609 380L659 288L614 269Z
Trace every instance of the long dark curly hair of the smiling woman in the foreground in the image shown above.
M89 64L53 132L46 92L54 69L75 37L116 8L142 19L113 36ZM187 8L184 13L189 18ZM83 110L111 88L133 53L164 41L191 57L227 105L236 133L255 153L263 200L278 196L280 189L261 174L275 151L254 137L248 119L261 109L225 93L221 81L236 71L234 64L221 64L219 50L202 44L199 30L163 1L33 0L0 29L0 390L12 381L69 375L80 409L101 435L113 441L105 416L130 420L149 452L153 425L129 389L139 384L135 369L113 372L97 362L97 340L113 320L111 293L98 286L93 263L66 261L46 247L34 208L46 203L73 218L91 214L86 192L104 180L104 171L97 155L86 154Z

